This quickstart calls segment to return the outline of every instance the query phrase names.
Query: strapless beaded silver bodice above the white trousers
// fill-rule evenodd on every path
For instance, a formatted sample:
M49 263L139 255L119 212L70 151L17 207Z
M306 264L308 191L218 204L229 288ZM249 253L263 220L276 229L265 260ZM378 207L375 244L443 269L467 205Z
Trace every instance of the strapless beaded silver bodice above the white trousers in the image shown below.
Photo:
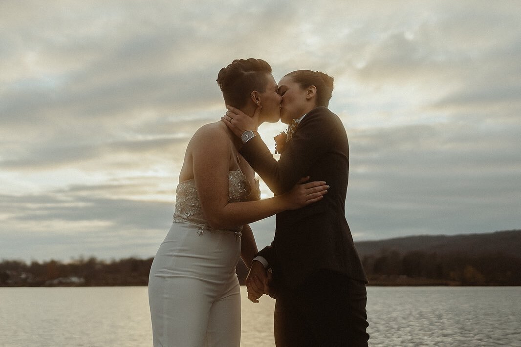
M261 199L258 180L255 180L256 187L252 187L250 181L240 170L228 173L228 202L252 201ZM199 194L194 179L183 181L178 184L176 189L176 211L173 214L174 222L189 222L199 224L200 235L204 229L210 229L206 216L201 208ZM242 226L238 226L230 231L240 232Z

